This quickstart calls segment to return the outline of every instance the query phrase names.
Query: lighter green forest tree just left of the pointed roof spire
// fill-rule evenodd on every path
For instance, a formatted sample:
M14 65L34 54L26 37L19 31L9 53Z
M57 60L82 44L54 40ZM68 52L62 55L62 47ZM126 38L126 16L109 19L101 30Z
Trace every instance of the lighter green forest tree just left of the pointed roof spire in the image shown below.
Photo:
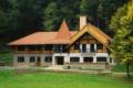
M59 9L55 2L51 2L48 4L48 7L44 9L44 15L43 15L43 28L45 31L53 31L57 30L57 24L59 23Z

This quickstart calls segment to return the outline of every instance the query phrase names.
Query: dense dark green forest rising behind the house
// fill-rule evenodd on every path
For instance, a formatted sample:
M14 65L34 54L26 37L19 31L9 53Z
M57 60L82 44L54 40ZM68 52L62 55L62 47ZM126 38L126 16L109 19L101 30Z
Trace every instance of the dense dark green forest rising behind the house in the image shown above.
M0 0L0 40L11 42L38 31L57 31L63 20L78 30L79 16L106 33L111 16L127 0Z

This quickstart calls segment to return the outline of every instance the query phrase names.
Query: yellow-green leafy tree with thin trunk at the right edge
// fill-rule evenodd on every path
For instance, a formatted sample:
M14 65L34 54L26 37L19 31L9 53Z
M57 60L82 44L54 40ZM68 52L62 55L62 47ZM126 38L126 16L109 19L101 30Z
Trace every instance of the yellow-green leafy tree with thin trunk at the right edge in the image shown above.
M115 30L112 55L126 65L130 78L130 66L133 64L133 0L120 8L112 18L111 29ZM123 13L122 13L123 12Z

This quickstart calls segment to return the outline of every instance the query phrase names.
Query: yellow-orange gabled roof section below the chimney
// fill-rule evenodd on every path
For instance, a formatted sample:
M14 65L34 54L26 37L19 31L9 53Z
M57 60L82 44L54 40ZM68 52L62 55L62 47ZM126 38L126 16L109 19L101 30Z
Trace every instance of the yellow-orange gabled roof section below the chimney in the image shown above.
M74 34L71 37L71 44L73 44L76 40L79 40L84 33L89 33L94 38L96 38L96 41L99 41L100 43L102 43L105 46L109 44L110 36L108 36L105 33L103 33L102 31L98 30L98 28L94 28L91 24L85 25L76 34Z

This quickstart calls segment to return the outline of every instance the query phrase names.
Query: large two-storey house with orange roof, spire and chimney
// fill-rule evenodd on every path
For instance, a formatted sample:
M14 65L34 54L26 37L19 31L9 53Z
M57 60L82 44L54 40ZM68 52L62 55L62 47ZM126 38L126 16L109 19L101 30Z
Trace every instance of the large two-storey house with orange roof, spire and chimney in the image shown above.
M111 37L80 16L80 29L70 31L65 21L58 32L35 32L9 43L14 66L110 64Z

